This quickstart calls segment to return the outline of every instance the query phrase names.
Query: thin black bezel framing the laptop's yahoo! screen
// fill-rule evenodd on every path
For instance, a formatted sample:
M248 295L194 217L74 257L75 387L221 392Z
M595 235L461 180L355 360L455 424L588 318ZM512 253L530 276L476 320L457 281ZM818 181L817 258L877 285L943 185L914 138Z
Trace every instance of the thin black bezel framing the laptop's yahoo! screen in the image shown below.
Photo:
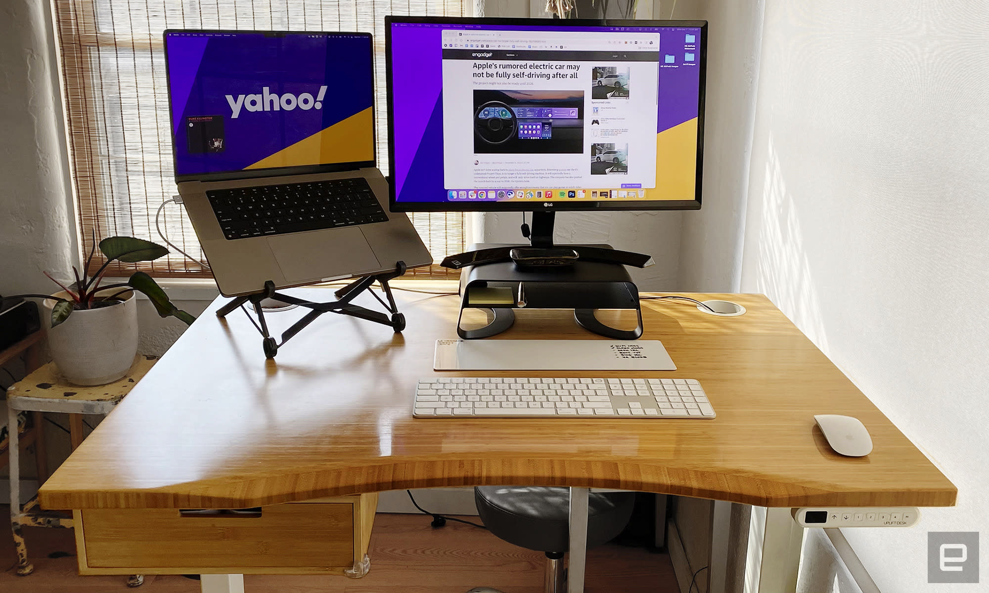
M262 34L271 36L289 35L322 35L326 37L362 37L368 38L368 48L371 53L371 132L372 146L375 147L374 158L369 161L352 161L346 163L321 163L316 165L294 165L289 167L267 167L264 169L233 169L231 171L219 171L215 173L186 173L180 175L178 172L178 159L175 152L175 129L172 116L172 88L171 79L168 76L168 36L175 33L204 33L204 34ZM374 73L374 36L364 31L260 31L247 29L166 29L161 32L161 41L165 52L165 89L168 100L168 135L172 140L172 173L175 182L183 181L228 181L234 179L252 179L256 177L283 176L283 175L306 175L310 173L339 173L341 171L353 171L365 167L378 166L378 110L375 106L377 96L375 93L375 73Z

